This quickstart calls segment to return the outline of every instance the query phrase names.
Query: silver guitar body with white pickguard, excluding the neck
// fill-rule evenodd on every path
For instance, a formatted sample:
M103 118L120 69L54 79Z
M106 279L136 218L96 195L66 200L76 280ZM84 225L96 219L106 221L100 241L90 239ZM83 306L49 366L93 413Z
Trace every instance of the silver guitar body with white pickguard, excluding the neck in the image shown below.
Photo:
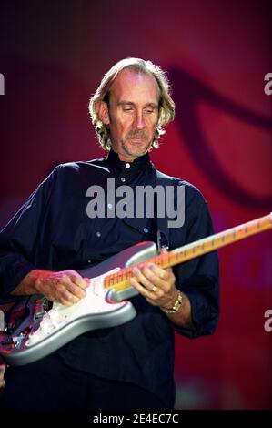
M42 316L41 311L38 315L35 310L30 311L31 320L23 322L21 328L17 327L13 337L1 334L1 357L10 365L28 364L55 352L86 331L116 327L133 320L136 310L126 299L135 296L137 291L133 287L118 292L106 290L104 279L110 273L151 259L156 254L154 242L141 242L93 268L78 270L84 278L91 279L86 297L70 307L54 303ZM35 305L35 296L31 301ZM26 324L27 333L24 332Z

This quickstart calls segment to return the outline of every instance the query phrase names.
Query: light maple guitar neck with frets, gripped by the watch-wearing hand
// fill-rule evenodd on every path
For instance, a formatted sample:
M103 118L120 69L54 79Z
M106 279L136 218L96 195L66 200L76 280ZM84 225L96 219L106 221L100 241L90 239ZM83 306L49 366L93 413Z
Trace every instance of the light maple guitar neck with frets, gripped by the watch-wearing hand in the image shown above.
M252 235L272 228L272 213L259 219L248 221L235 228L227 229L204 239L196 240L176 250L160 254L146 262L156 263L162 269L171 268L177 264L201 257L208 252L218 250L237 240L246 239ZM143 264L140 263L141 265ZM116 291L126 290L131 287L130 279L134 277L132 270L134 267L119 270L117 273L106 276L104 286L106 289Z

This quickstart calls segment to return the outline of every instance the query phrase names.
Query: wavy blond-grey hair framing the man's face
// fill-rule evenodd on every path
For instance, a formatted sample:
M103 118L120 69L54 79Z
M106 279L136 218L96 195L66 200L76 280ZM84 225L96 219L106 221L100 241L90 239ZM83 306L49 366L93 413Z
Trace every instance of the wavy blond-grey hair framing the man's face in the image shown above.
M116 79L116 76L125 68L136 71L137 73L146 73L156 78L156 82L160 90L159 116L152 147L158 148L158 139L166 132L163 127L174 120L175 117L175 103L170 97L169 81L166 73L161 69L160 66L155 66L151 61L145 61L141 58L130 57L118 61L115 66L110 68L110 70L103 77L99 87L97 87L96 93L90 99L89 113L96 129L99 143L105 150L110 150L111 140L109 127L108 125L105 125L98 117L96 103L100 101L105 101L107 103L109 102L110 87Z

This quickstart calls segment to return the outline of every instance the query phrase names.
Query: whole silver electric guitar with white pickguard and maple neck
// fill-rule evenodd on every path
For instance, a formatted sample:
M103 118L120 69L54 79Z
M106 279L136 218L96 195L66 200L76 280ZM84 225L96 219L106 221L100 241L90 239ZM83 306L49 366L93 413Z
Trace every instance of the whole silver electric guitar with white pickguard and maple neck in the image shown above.
M86 297L73 306L54 303L50 309L45 297L35 295L7 311L5 331L0 332L0 356L8 364L24 365L55 352L86 331L131 321L136 310L126 299L137 294L130 279L138 263L152 261L166 269L267 229L272 229L272 213L160 255L154 242L140 242L93 268L78 270L91 280Z

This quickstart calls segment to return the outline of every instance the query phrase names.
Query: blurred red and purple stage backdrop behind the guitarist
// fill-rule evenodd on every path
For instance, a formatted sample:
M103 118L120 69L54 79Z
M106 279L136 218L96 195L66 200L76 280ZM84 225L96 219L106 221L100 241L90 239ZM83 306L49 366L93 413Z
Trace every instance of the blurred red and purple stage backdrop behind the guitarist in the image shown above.
M271 210L269 1L0 3L0 226L55 164L104 156L88 98L126 56L168 72L176 121L156 167L204 193L216 231ZM271 234L219 251L215 335L176 336L177 408L272 407ZM162 367L163 370L163 367Z

